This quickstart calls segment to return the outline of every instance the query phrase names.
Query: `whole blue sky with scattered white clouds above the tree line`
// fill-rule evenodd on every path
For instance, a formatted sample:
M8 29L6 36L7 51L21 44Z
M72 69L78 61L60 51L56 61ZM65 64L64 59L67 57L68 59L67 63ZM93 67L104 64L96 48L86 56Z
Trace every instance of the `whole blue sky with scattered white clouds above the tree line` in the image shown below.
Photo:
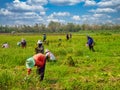
M0 25L120 24L120 0L0 0Z

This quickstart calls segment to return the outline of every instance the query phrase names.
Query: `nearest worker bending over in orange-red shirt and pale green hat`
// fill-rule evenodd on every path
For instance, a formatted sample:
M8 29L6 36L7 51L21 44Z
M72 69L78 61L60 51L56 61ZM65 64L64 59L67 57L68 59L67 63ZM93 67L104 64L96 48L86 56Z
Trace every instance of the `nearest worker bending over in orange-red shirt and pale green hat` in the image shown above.
M44 78L46 56L44 54L35 54L26 60L27 73L30 75L34 66L37 66L37 73L40 75L40 81Z

